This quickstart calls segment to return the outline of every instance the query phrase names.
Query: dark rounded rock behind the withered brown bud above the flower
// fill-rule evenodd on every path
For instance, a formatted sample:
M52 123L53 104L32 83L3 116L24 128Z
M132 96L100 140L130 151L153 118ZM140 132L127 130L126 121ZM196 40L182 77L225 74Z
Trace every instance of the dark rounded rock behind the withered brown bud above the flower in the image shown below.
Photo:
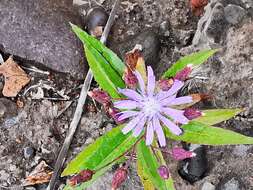
M115 49L115 51L124 58L125 53L131 51L136 44L142 45L146 65L151 65L153 68L156 68L160 59L159 52L161 47L159 37L152 30L146 30L140 34L134 35L116 47L112 47L112 49Z

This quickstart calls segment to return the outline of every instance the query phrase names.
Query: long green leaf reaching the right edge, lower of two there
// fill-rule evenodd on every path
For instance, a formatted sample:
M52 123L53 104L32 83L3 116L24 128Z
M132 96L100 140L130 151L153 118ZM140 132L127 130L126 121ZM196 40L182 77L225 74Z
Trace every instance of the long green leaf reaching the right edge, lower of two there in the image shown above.
M184 134L173 135L167 128L166 137L178 141L204 145L237 145L253 144L253 138L223 128L208 126L204 123L191 121L182 126Z

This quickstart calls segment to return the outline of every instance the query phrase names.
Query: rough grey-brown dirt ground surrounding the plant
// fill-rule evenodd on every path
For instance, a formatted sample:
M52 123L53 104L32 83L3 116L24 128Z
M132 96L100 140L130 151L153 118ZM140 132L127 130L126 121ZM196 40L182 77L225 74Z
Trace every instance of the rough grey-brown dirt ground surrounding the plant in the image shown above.
M114 1L104 0L100 2L109 13ZM222 1L224 6L228 2L234 3L234 1ZM94 5L96 3L92 1L92 6ZM246 4L243 5L246 6ZM87 13L89 5L85 4L77 6L77 8L80 9L80 12L83 13L85 10ZM247 7L244 8L246 10ZM251 18L251 15L248 14L247 17ZM159 53L155 54L151 61L159 76L185 52L199 49L197 45L192 45L192 39L198 30L199 19L199 16L195 16L191 12L188 0L124 1L118 10L118 16L109 38L109 46L121 54L118 44L124 46L129 40L135 39L136 35L145 30L154 31L159 39L160 46ZM206 65L213 65L204 66L200 70L202 75L205 73L204 77L207 80L195 80L188 89L188 91L198 90L217 95L213 101L204 102L200 105L204 108L245 107L246 113L220 124L220 127L229 128L249 136L253 136L253 42L251 27L252 21L249 19L245 19L244 22L235 26L228 25L229 29L226 29L224 37L222 37L223 40L217 42L218 46L224 47L225 50L206 63ZM242 38L238 37L240 35ZM243 41L242 39L246 40ZM5 52L2 53L6 59L8 55ZM235 57L236 53L238 54ZM25 62L25 60L23 61ZM240 67L237 64L238 61L242 63L242 68L237 69ZM22 62L20 64L22 65ZM24 179L42 160L51 168L54 167L57 154L72 120L80 92L80 84L82 83L82 81L77 81L68 75L52 73L48 76L34 71L26 71L31 76L32 81L20 92L18 97L6 99L0 94L1 190L46 189L45 184L23 187ZM235 72L237 72L236 76L234 76ZM0 89L3 87L3 81L3 78L0 78ZM226 82L228 84L223 86ZM52 87L51 89L43 88L44 97L39 100L34 99L36 95L38 96L38 86L34 87L33 85L37 84L46 84ZM92 86L96 86L95 82ZM63 97L60 92L67 95L69 99L61 100ZM23 105L20 105L20 102ZM66 163L85 146L114 127L113 123L104 123L108 120L101 114L100 108L97 108L94 102L88 98ZM194 184L190 184L178 175L179 166L177 163L168 163L172 170L176 189L208 190L204 189L206 183L213 184L215 189L253 189L253 146L208 146L206 150L208 170L203 178ZM101 177L89 189L110 189L112 171ZM121 189L142 189L135 170L132 169L131 173L132 175ZM65 182L66 179L61 179L59 189L63 187Z

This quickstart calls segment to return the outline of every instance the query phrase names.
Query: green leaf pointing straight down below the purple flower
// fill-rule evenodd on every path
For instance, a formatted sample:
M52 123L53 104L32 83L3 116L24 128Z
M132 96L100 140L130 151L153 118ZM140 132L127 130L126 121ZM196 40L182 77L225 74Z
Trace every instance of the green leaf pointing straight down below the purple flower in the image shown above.
M157 172L160 164L158 163L154 153L150 148L141 140L137 145L137 159L140 162L141 167L145 171L145 176L152 182L156 189L159 190L173 190L168 186L170 182L160 177Z

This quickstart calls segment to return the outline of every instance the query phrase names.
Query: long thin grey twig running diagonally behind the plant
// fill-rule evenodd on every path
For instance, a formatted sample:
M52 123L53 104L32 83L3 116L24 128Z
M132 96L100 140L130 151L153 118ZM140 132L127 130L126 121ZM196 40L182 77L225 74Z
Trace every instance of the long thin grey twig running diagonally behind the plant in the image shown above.
M107 40L108 34L110 32L111 26L112 26L113 21L114 21L114 17L115 17L118 5L119 5L119 0L116 0L114 5L113 5L112 11L110 13L109 19L106 23L106 26L105 26L104 32L102 34L102 37L100 39L100 41L102 43L105 43L106 40ZM69 146L70 146L71 141L73 139L74 133L75 133L76 128L77 128L77 125L78 125L78 123L81 119L82 112L83 112L83 106L85 104L85 100L86 100L86 97L87 97L87 92L90 88L92 78L93 78L93 74L92 74L91 69L89 69L89 71L87 73L87 76L85 78L85 81L83 83L83 86L82 86L82 90L81 90L81 94L80 94L80 97L79 97L79 100L78 100L78 103L77 103L76 111L75 111L73 120L72 120L72 122L70 124L70 127L69 127L69 132L68 132L68 134L65 138L63 146L62 146L62 148L60 150L60 153L58 155L58 158L56 160L54 173L53 173L53 176L52 176L52 178L49 182L47 190L54 190L55 189L56 181L59 177L59 173L61 171L62 165L63 165L63 163L66 159L66 155L68 153L68 149L69 149Z

